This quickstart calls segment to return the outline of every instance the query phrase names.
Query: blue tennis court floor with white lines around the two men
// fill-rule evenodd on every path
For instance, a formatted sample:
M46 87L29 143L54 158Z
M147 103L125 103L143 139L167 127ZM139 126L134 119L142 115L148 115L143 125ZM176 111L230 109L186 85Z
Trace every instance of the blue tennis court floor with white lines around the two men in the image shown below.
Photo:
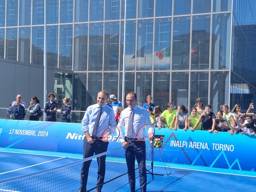
M82 159L81 154L67 154L59 152L43 152L43 151L33 151L25 149L9 149L0 148L0 180L8 179L10 177L16 177L24 174L32 174L34 172L40 172L45 169L52 169L53 167L58 167L65 164L70 164L72 162L77 162ZM108 160L108 159L107 159ZM94 162L94 161L93 161ZM96 162L96 161L95 161ZM116 167L113 169L110 167L113 165ZM121 166L119 166L122 164ZM108 180L108 174L114 174L114 172L125 172L126 164L122 159L116 159L106 162L106 178ZM227 170L219 168L209 168L209 167L199 167L199 166L189 166L180 164L169 164L171 167L171 174L167 175L169 169L165 169L162 163L155 162L153 173L163 174L162 175L152 175L147 176L147 191L148 192L174 192L174 191L255 191L256 187L256 174L255 172L244 172L236 170ZM117 169L117 167L119 167ZM150 170L151 166L147 166ZM123 169L123 170L122 170ZM167 170L167 172L166 172ZM92 172L96 172L96 169L91 169ZM56 170L53 170L56 172ZM51 179L53 176L48 174L40 179L41 185L48 184L49 180L54 180L54 187L49 184L46 189L31 189L29 187L24 189L24 191L78 191L80 185L80 167L75 170L70 170L68 173L66 170L60 172L62 175L61 180ZM72 177L71 177L72 176ZM96 179L92 177L92 186ZM0 181L1 182L1 181ZM60 183L59 183L60 182ZM63 183L75 183L72 189L68 186L63 186ZM118 182L118 183L117 183ZM105 184L102 191L106 192L129 192L129 184L127 175L123 175L119 179L115 179L112 182ZM34 185L33 182L30 185ZM139 181L136 182L136 189L139 191ZM29 184L25 184L29 185ZM58 187L59 186L59 187ZM67 190L65 190L65 187ZM0 189L0 191L15 191L15 190L5 190ZM20 190L23 191L23 190ZM95 190L92 190L95 191Z

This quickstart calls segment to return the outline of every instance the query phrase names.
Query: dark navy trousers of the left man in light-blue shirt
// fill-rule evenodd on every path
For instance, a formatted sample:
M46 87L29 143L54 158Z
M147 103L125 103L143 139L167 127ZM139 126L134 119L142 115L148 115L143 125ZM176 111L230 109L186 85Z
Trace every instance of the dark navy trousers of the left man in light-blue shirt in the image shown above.
M87 157L92 157L94 153L101 154L106 152L107 147L108 147L108 142L104 142L101 140L96 140L94 143L89 144L87 142L86 136L84 137L84 159ZM105 170L106 170L106 155L103 155L101 157L97 157L97 163L98 163L98 179L97 179L97 184L101 184L104 182L104 177L105 177ZM82 170L81 170L81 191L86 191L86 184L88 180L88 173L89 173L89 167L91 164L91 160L83 162L82 165ZM100 189L102 188L99 187Z

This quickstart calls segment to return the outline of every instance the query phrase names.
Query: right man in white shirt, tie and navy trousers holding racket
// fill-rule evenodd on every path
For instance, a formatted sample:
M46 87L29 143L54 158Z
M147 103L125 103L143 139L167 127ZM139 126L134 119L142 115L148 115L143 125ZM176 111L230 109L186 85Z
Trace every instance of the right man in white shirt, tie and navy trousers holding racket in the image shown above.
M120 141L124 147L125 158L128 168L128 179L131 192L135 192L135 159L139 165L139 185L140 191L147 190L147 173L146 173L146 144L145 141L133 141L139 128L144 124L151 124L150 116L147 109L136 105L137 95L134 92L127 93L126 103L128 107L120 114L118 129L120 130ZM132 123L129 124L130 116ZM123 139L122 129L124 128L125 136ZM130 131L130 129L132 129ZM130 134L130 135L129 135ZM150 135L150 139L153 134Z

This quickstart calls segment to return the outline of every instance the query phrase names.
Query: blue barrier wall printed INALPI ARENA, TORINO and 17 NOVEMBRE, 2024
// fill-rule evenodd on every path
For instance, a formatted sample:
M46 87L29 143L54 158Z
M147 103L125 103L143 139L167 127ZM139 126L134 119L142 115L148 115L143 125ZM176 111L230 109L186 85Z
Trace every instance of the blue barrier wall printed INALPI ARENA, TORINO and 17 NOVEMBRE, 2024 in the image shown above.
M255 136L169 129L156 129L156 134L165 136L162 149L168 162L256 170ZM0 147L82 154L83 137L81 124L0 119ZM108 149L120 146L118 139ZM162 161L160 152L154 150L155 161Z

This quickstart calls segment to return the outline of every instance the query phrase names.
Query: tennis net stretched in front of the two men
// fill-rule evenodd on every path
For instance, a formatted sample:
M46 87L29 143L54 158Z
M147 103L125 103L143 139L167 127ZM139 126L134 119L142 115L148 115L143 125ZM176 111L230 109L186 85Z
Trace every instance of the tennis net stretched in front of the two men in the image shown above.
M147 151L150 144L147 143ZM106 174L102 192L116 191L128 184L124 149L119 147L76 162L51 169L0 180L0 191L8 192L76 192L81 184L83 162L91 161L87 182L88 191L96 191L98 164L96 157L106 155ZM137 165L136 165L137 166ZM137 176L138 173L136 172Z

